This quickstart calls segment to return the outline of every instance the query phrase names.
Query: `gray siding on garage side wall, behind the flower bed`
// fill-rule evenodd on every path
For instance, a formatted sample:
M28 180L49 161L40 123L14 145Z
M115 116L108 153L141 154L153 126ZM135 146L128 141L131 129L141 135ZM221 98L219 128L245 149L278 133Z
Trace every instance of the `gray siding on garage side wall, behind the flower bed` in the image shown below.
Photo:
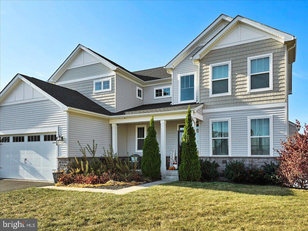
M97 145L96 156L103 155L103 147L107 150L112 144L111 124L108 119L69 113L69 154L68 156L82 156L77 141L83 147L87 144L92 147L92 140ZM90 154L87 152L87 156Z

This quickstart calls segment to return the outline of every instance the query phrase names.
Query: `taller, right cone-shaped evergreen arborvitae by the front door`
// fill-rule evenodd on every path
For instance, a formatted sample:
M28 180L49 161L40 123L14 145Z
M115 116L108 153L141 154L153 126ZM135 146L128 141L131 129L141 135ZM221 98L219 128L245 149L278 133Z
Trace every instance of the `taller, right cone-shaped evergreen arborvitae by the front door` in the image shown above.
M180 179L184 181L199 181L201 169L197 154L196 132L193 128L193 118L190 106L188 106L185 119L181 163L179 168Z

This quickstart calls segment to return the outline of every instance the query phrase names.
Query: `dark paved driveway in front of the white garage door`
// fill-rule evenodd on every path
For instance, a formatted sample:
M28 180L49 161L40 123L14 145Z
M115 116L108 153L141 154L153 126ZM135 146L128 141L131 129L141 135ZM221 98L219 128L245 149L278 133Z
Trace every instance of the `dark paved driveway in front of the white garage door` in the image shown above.
M30 187L38 188L49 185L54 185L54 184L51 182L43 182L43 181L0 179L0 193L23 188L30 188Z

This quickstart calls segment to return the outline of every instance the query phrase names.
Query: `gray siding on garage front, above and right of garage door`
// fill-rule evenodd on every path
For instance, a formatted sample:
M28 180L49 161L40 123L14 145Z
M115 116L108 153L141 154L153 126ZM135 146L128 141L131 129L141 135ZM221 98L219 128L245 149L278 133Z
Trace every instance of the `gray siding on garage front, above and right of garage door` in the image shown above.
M2 106L0 118L1 130L59 126L64 142L58 146L58 156L66 156L67 113L51 101Z

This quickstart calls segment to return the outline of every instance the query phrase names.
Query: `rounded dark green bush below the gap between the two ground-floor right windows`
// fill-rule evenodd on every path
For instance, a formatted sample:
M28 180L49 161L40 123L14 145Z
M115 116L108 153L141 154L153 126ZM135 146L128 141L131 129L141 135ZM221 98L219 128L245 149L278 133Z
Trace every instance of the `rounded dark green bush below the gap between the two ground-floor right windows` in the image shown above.
M245 164L244 161L234 160L228 162L225 168L225 178L232 182L242 182L245 180Z

